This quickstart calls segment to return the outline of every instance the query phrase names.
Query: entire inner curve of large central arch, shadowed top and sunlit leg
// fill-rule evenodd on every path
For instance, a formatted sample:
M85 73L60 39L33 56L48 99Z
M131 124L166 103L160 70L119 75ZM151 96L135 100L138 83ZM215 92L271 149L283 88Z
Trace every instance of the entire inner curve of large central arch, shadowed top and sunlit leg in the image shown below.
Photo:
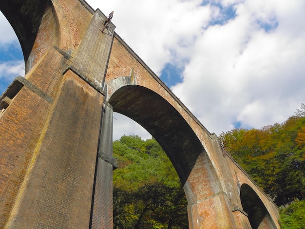
M107 98L108 103L114 112L130 117L152 134L167 153L187 197L190 228L231 225L233 220L228 214L228 206L220 204L218 197L222 197L217 196L223 193L218 174L187 120L158 93L144 86L129 84L129 76L117 77L114 81L116 83L109 83L116 89L110 90L113 93ZM119 86L117 82L124 85ZM214 199L215 193L217 200ZM223 199L222 203L225 203ZM198 204L202 204L200 208L204 208L205 213L196 210ZM211 210L211 205L218 209ZM222 220L215 221L215 218ZM233 225L229 227L234 228Z

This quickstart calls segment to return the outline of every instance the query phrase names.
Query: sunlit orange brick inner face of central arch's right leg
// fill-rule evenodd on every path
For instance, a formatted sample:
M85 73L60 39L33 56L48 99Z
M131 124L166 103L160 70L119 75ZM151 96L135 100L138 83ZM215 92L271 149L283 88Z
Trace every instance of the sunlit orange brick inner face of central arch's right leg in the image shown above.
M190 229L236 229L227 194L208 153L198 155L184 191Z

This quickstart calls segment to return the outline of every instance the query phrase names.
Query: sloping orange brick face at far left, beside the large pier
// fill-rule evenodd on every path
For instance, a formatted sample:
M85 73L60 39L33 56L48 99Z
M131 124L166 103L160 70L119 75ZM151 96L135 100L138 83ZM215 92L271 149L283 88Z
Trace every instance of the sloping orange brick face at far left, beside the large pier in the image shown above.
M3 228L23 181L35 143L46 117L41 106L50 105L22 88L0 118L0 228Z

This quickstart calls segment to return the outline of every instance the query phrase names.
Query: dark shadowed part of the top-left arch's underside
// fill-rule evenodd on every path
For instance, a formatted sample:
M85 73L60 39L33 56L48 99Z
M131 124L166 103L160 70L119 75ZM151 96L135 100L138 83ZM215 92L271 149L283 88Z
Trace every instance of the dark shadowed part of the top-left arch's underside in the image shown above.
M51 0L1 0L0 10L19 39L25 62L33 48L40 22Z

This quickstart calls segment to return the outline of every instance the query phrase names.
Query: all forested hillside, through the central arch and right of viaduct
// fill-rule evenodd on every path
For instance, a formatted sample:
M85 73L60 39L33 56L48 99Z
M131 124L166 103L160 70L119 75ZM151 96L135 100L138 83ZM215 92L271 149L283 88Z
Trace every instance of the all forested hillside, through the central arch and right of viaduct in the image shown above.
M305 105L282 124L221 135L226 150L281 207L283 229L305 229ZM114 141L114 229L187 229L187 201L154 139ZM299 200L299 201L298 201Z

